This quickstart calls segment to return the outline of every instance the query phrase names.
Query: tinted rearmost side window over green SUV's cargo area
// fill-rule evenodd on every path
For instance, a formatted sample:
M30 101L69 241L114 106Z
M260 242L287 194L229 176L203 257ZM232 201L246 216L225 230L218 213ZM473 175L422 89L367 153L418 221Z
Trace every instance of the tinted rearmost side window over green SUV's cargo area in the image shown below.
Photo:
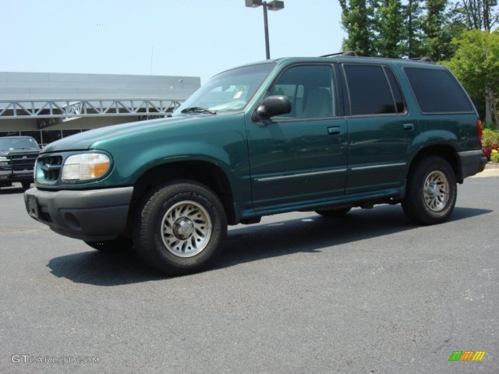
M404 69L422 113L474 112L468 96L448 70Z

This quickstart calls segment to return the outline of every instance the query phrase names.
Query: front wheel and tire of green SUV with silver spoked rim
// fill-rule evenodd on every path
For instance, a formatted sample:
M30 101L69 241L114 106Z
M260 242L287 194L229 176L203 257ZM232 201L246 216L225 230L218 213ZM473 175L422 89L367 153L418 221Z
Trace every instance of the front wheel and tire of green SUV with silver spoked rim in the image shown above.
M154 190L138 210L134 244L139 257L168 275L208 268L220 254L227 217L207 187L181 181Z

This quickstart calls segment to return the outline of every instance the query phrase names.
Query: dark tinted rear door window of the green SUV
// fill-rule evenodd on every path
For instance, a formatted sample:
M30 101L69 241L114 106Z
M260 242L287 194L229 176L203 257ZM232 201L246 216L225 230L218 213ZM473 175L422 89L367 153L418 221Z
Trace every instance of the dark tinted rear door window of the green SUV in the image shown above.
M390 69L375 65L344 65L351 115L404 112L404 101ZM388 81L392 81L391 84Z

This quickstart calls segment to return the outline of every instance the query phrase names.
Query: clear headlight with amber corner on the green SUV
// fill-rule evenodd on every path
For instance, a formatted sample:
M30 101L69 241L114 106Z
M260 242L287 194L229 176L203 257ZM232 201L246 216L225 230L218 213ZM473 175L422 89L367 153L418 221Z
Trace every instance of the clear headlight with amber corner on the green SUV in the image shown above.
M69 156L62 166L63 181L88 181L109 171L111 161L102 153L82 153Z

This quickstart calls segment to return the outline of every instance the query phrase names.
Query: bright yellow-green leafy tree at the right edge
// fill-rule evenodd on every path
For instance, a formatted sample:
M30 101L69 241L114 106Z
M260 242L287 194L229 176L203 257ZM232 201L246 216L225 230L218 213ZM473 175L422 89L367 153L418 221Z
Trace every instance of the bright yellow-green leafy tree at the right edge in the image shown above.
M456 54L444 62L474 101L485 101L485 121L498 124L497 98L499 97L499 31L464 31L453 39Z

